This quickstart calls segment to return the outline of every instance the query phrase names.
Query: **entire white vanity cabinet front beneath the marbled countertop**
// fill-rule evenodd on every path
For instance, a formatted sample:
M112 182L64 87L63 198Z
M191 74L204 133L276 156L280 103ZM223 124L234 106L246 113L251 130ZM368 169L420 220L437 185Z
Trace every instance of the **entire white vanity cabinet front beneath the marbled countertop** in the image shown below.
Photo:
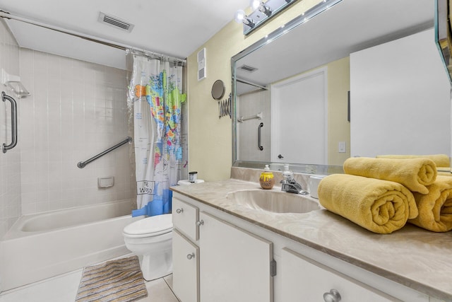
M172 200L182 302L338 301L324 300L332 289L343 302L440 301L177 192Z

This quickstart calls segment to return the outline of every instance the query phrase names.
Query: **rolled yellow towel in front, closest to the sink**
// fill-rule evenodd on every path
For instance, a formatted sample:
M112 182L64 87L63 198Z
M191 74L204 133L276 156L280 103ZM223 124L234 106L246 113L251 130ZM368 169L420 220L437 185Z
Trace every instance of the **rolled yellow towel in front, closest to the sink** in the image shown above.
M417 216L415 198L397 182L333 174L317 192L323 207L374 233L392 233Z

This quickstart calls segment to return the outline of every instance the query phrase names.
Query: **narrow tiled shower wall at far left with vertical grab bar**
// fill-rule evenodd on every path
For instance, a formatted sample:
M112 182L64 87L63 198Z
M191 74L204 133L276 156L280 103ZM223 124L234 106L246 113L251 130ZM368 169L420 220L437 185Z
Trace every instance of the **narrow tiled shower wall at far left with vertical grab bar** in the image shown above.
M0 69L19 75L19 46L4 21L0 21ZM0 92L15 97L0 83ZM17 100L17 98L16 98ZM20 124L20 117L18 120ZM11 105L0 101L0 145L11 143ZM0 238L20 216L20 144L0 151Z

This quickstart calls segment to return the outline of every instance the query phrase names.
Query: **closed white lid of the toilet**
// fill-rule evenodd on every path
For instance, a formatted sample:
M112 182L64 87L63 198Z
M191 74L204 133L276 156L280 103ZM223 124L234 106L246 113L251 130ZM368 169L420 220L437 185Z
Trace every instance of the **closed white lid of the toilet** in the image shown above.
M130 223L123 233L130 237L157 236L172 230L172 214L151 216Z

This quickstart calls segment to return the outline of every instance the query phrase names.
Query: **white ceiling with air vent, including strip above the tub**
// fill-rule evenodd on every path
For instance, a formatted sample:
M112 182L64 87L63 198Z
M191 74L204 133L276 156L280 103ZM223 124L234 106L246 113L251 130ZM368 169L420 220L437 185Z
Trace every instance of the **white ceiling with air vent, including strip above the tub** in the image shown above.
M83 35L186 58L232 21L249 0L0 0L0 10ZM131 33L97 21L100 12L132 23ZM124 51L8 20L20 47L125 68Z

